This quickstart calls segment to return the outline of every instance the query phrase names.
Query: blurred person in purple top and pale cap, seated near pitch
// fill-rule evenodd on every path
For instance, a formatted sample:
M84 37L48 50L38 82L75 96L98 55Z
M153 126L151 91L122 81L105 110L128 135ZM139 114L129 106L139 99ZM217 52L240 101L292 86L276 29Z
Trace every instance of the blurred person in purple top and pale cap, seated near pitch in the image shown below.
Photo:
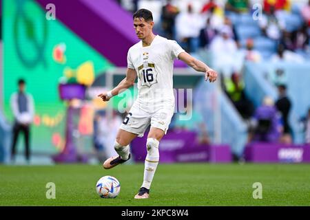
M273 100L265 97L262 105L254 113L254 142L278 142L282 133L280 115Z

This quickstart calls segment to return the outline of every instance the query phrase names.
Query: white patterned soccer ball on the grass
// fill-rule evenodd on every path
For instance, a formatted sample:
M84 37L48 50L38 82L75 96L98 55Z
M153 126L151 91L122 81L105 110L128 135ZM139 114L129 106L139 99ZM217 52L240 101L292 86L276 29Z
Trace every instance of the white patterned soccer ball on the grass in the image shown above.
M112 176L101 177L96 184L96 192L101 198L115 198L121 190L121 184Z

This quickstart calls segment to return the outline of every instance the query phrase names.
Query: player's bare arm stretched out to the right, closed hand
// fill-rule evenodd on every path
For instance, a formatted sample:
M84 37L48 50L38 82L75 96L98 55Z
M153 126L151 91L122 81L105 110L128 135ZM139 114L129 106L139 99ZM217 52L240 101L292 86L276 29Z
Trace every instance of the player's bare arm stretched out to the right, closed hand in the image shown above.
M209 80L210 83L213 83L216 78L218 78L218 73L214 69L211 69L205 63L198 61L193 56L187 54L187 52L181 52L178 55L178 58L196 71L204 72L206 81Z

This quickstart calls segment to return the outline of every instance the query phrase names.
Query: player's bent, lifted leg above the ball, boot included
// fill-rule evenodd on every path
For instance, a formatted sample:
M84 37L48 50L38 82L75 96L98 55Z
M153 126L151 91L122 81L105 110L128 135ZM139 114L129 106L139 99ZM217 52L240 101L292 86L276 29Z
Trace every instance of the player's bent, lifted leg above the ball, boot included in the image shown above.
M137 136L136 133L131 133L123 129L119 129L114 143L114 149L118 155L110 157L103 163L103 168L110 169L118 164L123 164L130 159L130 142Z

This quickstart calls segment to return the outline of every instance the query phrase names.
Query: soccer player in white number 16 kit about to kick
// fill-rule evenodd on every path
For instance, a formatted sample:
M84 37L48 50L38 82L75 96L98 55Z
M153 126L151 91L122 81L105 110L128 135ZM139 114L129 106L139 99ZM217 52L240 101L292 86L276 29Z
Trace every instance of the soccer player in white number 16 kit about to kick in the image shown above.
M135 137L143 137L145 129L151 124L147 135L147 156L143 184L135 199L149 198L149 188L159 161L158 146L174 114L173 66L178 58L198 72L205 72L205 80L210 83L217 78L217 73L205 63L187 54L176 41L165 39L152 32L154 21L152 12L141 9L134 13L134 30L139 41L127 54L126 77L111 91L99 94L103 101L125 89L132 87L138 76L138 98L125 117L116 135L114 149L118 155L103 163L103 168L110 169L130 159L130 142Z

